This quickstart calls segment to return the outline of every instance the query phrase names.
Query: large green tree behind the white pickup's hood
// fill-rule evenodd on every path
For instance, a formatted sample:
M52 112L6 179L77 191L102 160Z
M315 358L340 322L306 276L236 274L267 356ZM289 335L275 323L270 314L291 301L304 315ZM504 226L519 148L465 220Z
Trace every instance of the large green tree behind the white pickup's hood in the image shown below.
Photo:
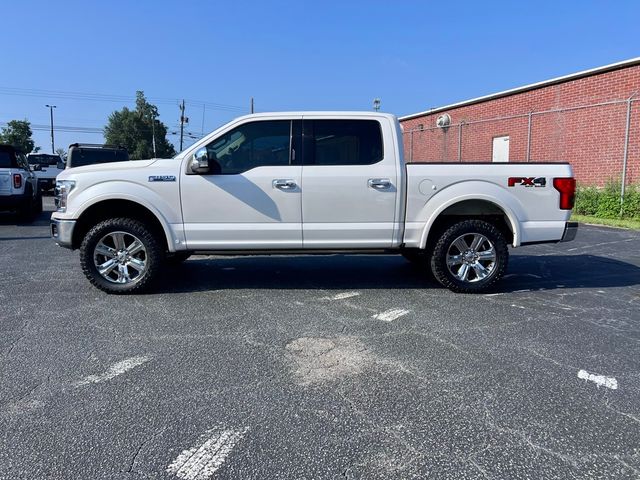
M167 158L176 153L167 140L167 127L158 120L158 107L147 102L142 91L136 92L135 110L124 107L109 115L104 136L107 143L125 147L132 160L153 158L154 139L156 157Z

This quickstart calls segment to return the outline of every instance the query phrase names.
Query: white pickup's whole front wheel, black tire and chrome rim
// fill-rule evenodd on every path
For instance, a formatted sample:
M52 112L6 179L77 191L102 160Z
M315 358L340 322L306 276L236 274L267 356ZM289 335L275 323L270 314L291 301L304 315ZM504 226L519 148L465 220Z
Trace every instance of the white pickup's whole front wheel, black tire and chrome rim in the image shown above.
M154 232L130 218L110 218L85 235L80 246L82 271L107 293L139 293L158 276L164 258Z

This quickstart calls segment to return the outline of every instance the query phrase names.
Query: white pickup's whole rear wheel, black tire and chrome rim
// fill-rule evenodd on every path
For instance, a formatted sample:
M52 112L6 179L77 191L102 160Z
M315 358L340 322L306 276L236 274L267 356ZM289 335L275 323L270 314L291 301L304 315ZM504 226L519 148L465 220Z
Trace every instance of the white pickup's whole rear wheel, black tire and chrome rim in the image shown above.
M480 293L502 278L508 262L509 250L500 230L481 220L464 220L440 236L431 269L449 290Z

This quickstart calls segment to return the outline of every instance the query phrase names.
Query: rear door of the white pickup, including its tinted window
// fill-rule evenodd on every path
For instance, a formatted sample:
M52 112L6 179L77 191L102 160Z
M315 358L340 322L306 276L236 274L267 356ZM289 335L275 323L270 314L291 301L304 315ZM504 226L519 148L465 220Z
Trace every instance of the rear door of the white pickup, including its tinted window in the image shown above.
M385 118L304 117L303 246L388 248L396 228L398 172Z

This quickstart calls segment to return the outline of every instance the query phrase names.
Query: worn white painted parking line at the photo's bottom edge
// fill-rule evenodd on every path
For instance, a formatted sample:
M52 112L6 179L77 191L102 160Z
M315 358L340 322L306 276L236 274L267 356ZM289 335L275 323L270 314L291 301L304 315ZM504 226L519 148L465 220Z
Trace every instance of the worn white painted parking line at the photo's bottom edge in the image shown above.
M247 430L208 430L195 447L178 455L167 472L183 480L206 480L222 466Z

